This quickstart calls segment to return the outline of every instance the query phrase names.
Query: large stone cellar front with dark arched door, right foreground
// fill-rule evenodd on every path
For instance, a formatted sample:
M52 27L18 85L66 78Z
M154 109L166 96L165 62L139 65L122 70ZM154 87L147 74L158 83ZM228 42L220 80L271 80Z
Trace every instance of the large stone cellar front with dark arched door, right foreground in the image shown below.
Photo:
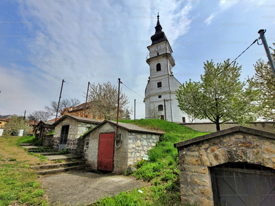
M275 205L275 134L236 126L175 144L182 203Z

